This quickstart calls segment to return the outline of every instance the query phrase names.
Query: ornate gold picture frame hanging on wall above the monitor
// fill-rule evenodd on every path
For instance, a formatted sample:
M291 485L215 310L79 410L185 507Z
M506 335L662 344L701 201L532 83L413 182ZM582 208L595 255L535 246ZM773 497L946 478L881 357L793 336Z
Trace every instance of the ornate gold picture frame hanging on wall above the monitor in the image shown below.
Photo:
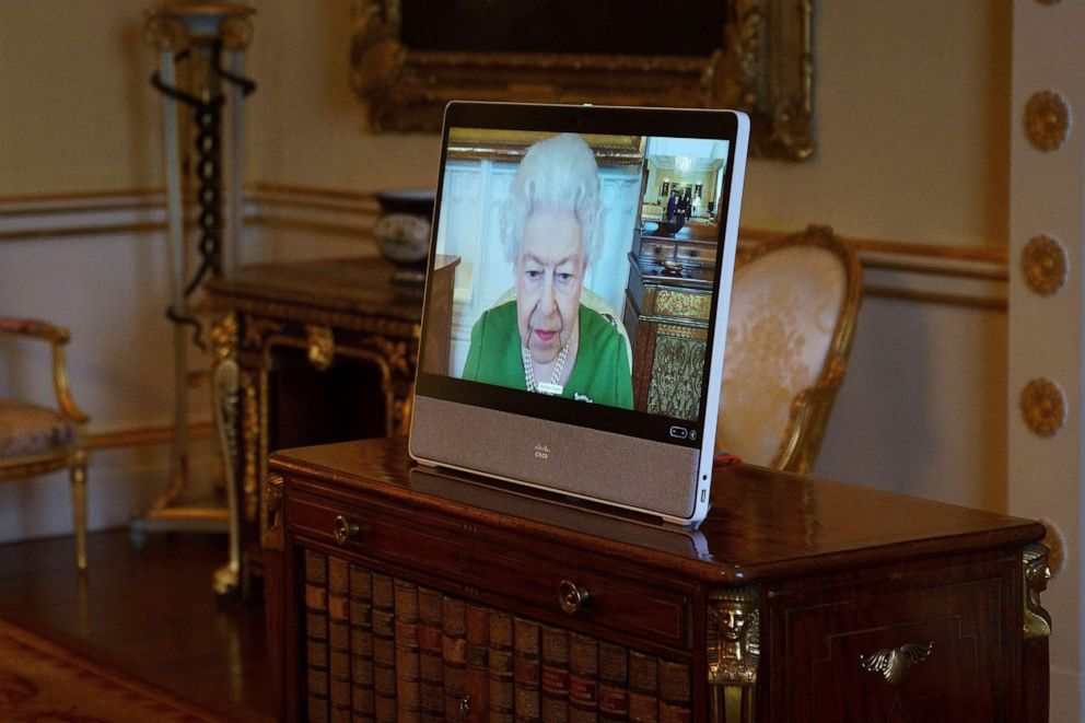
M733 20L701 57L421 50L401 0L352 0L351 83L376 131L436 131L453 100L738 108L752 154L809 158L813 0L721 1Z

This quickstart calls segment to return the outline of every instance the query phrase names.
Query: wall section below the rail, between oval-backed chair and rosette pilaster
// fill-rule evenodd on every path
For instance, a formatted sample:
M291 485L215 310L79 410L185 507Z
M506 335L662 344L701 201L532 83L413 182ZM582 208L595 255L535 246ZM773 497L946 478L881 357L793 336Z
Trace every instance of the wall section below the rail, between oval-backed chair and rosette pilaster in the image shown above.
M1005 510L1005 385L1004 313L866 298L815 473Z

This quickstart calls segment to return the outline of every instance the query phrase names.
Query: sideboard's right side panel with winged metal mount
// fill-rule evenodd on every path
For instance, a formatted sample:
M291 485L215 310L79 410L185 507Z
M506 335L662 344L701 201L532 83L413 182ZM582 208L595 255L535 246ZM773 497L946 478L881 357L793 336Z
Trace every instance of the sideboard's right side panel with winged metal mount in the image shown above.
M783 711L772 720L1007 720L1016 593L1008 573L992 572L883 594L780 596L770 698Z

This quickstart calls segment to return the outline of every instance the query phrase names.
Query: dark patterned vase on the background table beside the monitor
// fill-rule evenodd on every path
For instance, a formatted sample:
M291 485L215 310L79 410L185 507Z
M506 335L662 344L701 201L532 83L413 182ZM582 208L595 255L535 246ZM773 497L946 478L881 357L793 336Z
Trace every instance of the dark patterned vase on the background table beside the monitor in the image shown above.
M387 190L376 194L381 218L373 226L377 247L395 264L392 281L422 284L430 256L432 190Z

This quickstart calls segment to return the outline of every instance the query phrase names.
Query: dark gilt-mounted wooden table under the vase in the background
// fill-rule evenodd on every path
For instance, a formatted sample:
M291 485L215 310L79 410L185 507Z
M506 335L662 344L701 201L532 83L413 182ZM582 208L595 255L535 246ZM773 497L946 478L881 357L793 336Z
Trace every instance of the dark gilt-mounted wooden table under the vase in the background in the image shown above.
M431 281L446 300L434 307L447 311L434 325L446 329L458 263L439 257ZM382 258L258 264L207 283L213 308L228 313L214 331L219 364L237 370L234 420L224 425L234 432L243 582L262 562L270 452L402 434L410 424L422 288L392 282L394 270Z

